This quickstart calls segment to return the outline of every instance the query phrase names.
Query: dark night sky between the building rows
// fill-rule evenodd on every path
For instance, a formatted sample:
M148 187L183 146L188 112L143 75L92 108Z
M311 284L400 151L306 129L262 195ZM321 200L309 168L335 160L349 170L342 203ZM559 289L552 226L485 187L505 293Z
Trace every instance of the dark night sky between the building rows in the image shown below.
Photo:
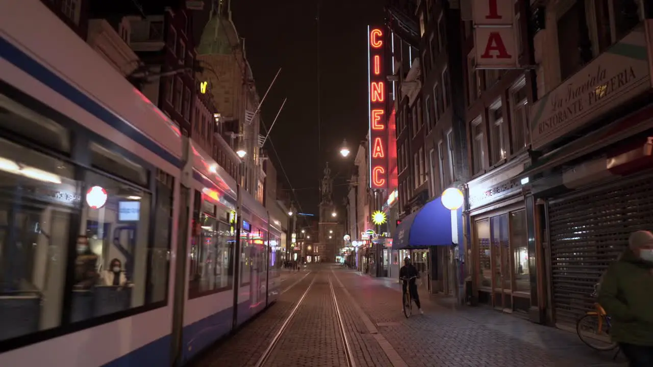
M355 147L368 129L367 25L383 22L383 0L320 1L318 129L318 1L231 1L261 97L281 67L262 106L264 124L270 127L283 99L288 99L270 134L278 157L269 142L264 149L288 187L279 160L285 168L300 209L312 214L318 213L325 161L334 174L341 172L334 181L334 202L341 204L345 195L342 172L349 172ZM338 153L343 138L352 151L348 159Z

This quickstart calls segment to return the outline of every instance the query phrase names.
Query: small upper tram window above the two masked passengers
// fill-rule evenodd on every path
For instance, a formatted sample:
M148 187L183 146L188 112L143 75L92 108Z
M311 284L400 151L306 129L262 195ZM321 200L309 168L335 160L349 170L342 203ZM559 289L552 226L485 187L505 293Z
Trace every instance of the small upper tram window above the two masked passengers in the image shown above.
M93 167L100 168L115 174L125 180L129 180L140 185L148 185L148 170L138 163L135 163L117 152L91 143L91 163Z

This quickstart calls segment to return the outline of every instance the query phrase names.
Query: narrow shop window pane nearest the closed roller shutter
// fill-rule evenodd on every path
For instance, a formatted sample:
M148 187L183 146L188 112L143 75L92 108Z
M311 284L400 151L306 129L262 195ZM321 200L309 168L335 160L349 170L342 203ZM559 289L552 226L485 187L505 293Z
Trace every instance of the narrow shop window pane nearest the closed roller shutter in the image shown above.
M526 234L526 211L510 214L510 245L513 251L513 278L515 291L526 292L530 296L530 277L528 272L528 236Z

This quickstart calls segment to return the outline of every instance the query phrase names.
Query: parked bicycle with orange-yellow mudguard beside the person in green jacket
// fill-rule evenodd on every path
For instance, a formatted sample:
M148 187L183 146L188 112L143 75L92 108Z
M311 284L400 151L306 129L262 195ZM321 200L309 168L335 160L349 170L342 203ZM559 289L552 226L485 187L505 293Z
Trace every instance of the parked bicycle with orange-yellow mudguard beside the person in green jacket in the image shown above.
M597 287L598 284L594 285L594 292L592 293L592 296L594 297L597 295ZM612 341L604 341L605 338L610 340L610 328L612 327L610 316L607 315L603 307L598 303L594 304L594 309L595 311L587 311L580 319L578 319L576 322L576 333L581 341L588 345L588 347L596 349L597 351L611 351L618 347L618 344ZM591 332L585 332L582 330L585 326L587 326ZM614 355L615 359L618 353L619 351Z

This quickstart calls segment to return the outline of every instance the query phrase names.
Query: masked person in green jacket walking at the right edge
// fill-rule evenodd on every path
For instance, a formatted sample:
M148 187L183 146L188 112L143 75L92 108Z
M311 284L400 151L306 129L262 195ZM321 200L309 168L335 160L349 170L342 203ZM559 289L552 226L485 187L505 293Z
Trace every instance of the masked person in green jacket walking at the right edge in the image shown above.
M631 367L653 366L653 234L637 231L603 275L598 302Z

